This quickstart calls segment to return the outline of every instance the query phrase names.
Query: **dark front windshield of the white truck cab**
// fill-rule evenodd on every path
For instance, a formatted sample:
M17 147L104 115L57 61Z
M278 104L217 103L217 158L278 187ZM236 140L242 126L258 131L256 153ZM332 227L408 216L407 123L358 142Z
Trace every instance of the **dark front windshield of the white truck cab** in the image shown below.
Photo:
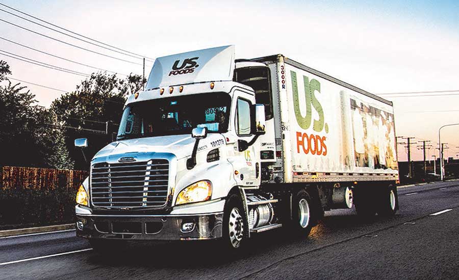
M226 132L231 98L203 93L141 101L124 109L117 139L190 134L195 127Z

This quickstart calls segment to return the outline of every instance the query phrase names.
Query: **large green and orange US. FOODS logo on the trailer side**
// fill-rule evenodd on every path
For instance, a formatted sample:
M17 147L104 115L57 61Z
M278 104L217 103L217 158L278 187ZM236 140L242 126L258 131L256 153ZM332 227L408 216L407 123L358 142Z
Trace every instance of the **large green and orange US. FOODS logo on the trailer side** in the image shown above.
M290 75L292 76L293 108L295 111L295 118L298 125L304 130L307 130L311 127L313 108L319 116L319 119L315 119L313 122L313 130L315 132L310 134L300 131L296 132L297 152L300 153L302 151L305 154L326 156L327 145L325 141L327 137L318 134L322 134L324 128L325 133L328 133L328 124L325 123L323 108L316 97L316 92L320 93L320 82L316 79L309 80L307 76L303 76L304 99L306 101L306 116L303 117L300 111L296 73L294 71L290 71Z

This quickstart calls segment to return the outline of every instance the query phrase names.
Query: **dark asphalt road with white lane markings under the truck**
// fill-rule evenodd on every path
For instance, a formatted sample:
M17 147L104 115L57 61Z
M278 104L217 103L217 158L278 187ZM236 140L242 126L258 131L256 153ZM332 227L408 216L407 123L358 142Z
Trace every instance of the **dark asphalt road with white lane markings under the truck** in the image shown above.
M392 218L365 223L353 209L333 210L308 238L266 232L237 257L213 242L137 244L104 257L74 231L3 238L0 279L459 279L459 181L398 191Z

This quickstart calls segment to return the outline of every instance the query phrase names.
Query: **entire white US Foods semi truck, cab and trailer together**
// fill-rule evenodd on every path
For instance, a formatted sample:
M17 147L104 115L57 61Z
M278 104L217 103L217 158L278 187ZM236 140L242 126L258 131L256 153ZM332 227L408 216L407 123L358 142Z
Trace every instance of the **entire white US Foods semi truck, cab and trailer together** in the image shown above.
M237 251L279 227L307 236L330 209L394 215L393 114L390 101L281 54L240 60L224 46L158 58L116 141L91 160L77 235L102 251L203 239Z

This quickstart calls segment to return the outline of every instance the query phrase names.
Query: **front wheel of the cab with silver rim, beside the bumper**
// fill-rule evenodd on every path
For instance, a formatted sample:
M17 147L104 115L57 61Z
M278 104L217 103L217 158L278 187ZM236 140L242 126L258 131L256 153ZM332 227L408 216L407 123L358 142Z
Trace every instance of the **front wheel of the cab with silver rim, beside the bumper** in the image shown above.
M248 224L242 201L237 194L231 194L223 214L223 248L241 251L248 238Z

